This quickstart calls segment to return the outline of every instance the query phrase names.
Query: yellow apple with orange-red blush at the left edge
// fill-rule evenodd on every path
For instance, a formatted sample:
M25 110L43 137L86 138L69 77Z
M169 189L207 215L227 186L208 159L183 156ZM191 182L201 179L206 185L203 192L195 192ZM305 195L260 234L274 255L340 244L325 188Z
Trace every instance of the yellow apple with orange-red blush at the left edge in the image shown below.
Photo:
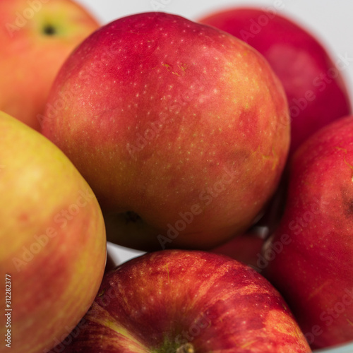
M11 327L1 325L0 335L11 330L13 353L43 352L95 299L106 258L104 221L92 190L54 144L2 112L0 130L0 309L12 309Z

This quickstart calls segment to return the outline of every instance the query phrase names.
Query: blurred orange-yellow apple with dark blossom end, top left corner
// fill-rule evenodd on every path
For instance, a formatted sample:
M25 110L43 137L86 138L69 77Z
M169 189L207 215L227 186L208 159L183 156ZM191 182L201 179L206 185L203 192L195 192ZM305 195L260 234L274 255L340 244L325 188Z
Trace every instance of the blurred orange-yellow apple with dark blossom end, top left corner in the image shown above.
M46 34L46 26L55 32ZM37 115L60 66L98 27L71 0L1 0L0 110L40 130Z

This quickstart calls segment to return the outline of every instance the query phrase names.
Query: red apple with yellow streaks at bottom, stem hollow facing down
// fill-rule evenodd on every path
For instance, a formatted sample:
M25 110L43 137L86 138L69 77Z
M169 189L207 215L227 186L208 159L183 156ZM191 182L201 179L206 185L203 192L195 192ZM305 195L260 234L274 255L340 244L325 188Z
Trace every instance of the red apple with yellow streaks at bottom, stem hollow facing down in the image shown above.
M157 251L119 265L83 324L61 352L177 352L186 343L195 352L310 352L264 277L204 251Z

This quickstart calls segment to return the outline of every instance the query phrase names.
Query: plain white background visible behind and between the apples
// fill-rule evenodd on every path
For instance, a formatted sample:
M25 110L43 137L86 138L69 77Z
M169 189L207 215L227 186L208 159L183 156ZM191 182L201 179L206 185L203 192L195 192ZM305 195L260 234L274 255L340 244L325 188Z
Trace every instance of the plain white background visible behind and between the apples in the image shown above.
M324 44L333 61L339 56L352 58L342 75L353 97L353 1L349 0L76 0L92 13L102 25L134 13L163 11L198 20L213 11L232 6L258 6L277 8L279 13L292 18L309 30ZM281 4L278 8L278 4ZM160 4L155 8L153 4ZM109 249L112 249L109 244ZM119 263L137 256L140 252L124 251L114 246L114 257Z

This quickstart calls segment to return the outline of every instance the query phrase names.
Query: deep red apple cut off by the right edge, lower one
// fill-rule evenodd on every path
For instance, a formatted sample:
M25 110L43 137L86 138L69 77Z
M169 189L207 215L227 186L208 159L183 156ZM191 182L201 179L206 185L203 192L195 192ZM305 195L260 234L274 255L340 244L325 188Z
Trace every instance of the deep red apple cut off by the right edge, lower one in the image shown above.
M263 274L287 299L313 347L353 338L352 165L353 116L301 145L290 164L285 214L263 249Z

